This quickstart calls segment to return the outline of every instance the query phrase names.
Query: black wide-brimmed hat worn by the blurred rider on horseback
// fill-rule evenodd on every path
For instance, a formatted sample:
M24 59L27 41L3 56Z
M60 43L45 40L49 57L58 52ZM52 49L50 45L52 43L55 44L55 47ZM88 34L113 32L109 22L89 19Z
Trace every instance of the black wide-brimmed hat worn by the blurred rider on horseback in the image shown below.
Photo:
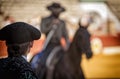
M47 6L47 9L53 11L53 9L59 10L59 12L64 12L65 8L60 5L60 3L52 3L51 5Z

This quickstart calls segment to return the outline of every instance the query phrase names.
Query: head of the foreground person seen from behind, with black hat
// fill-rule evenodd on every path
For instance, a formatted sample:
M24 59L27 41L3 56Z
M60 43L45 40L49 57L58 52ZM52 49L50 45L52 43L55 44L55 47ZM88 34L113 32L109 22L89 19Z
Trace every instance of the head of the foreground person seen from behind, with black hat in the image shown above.
M38 29L24 22L16 22L0 30L0 40L6 41L8 56L20 56L29 52L33 41L39 39Z

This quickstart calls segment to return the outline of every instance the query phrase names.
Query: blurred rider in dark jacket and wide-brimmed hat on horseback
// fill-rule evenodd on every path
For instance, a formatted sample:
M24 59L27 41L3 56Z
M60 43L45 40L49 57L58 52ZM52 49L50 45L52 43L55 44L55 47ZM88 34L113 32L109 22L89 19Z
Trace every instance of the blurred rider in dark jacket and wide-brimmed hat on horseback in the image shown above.
M62 7L59 3L52 3L51 5L47 6L47 9L51 11L51 15L45 18L42 18L40 30L42 33L46 36L46 41L43 47L43 53L44 55L38 59L44 62L44 68L46 59L48 58L48 55L51 53L51 51L57 47L61 46L61 38L64 38L66 41L66 49L69 46L69 37L66 29L65 22L59 18L60 14L65 11L65 8ZM53 33L54 31L54 33ZM53 34L52 34L53 33ZM47 44L46 44L47 42ZM44 75L42 73L44 72L44 68L40 68L40 63L37 63L37 67L33 65L33 68L35 69L37 75L39 76L39 79L42 79ZM43 78L44 79L44 78Z

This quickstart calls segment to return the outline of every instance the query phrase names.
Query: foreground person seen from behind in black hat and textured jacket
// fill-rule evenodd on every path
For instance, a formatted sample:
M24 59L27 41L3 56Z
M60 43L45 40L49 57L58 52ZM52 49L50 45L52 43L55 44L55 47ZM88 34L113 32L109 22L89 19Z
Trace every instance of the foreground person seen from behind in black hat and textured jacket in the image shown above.
M26 55L41 33L33 26L16 22L0 30L0 40L6 41L8 57L0 59L0 79L37 79Z

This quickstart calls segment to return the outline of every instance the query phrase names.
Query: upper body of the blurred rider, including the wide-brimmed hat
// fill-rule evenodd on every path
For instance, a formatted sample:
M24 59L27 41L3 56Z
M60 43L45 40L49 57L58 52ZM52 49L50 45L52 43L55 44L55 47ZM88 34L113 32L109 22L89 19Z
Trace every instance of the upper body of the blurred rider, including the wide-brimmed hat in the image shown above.
M42 19L41 32L48 37L50 31L55 29L54 35L51 36L48 45L45 47L50 52L54 47L61 45L62 37L65 38L67 44L69 44L69 38L65 22L59 19L60 13L64 12L65 9L59 3L53 3L47 6L47 9L51 11L51 15Z

